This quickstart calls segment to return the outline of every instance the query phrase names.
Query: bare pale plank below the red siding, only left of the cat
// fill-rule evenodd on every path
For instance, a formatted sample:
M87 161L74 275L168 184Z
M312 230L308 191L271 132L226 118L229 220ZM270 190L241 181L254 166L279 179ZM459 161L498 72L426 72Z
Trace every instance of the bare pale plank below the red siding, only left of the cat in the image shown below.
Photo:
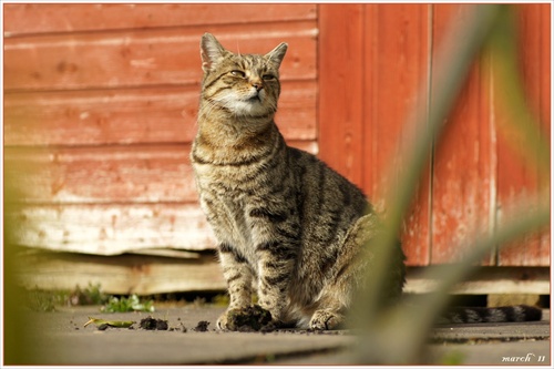
M214 255L183 259L34 253L20 256L18 262L18 283L30 289L73 290L100 284L104 294L114 295L226 290Z

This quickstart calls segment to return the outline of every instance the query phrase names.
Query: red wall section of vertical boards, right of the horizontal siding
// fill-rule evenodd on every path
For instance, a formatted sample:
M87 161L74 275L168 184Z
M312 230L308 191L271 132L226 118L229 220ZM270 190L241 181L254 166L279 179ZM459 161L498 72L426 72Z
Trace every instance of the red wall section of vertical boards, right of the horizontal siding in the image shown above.
M441 38L453 22L463 22L469 7L320 7L320 156L363 187L378 206L384 205L389 184L383 181L398 163L398 143L410 140L403 131L408 113L414 104L429 103ZM520 71L542 133L550 137L550 4L521 4L516 11ZM464 236L493 230L511 201L550 185L550 173L538 173L505 142L502 112L486 80L490 68L486 58L473 65L448 129L432 148L431 171L404 221L410 265L455 259L462 250L454 246ZM427 93L418 95L421 88ZM550 265L550 234L494 250L483 263Z

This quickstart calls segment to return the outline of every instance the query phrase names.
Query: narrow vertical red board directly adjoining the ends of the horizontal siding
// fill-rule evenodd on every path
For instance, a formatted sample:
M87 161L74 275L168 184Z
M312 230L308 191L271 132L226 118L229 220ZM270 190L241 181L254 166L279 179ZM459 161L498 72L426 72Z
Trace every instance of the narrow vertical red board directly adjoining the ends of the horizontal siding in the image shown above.
M363 6L319 7L319 156L362 185Z

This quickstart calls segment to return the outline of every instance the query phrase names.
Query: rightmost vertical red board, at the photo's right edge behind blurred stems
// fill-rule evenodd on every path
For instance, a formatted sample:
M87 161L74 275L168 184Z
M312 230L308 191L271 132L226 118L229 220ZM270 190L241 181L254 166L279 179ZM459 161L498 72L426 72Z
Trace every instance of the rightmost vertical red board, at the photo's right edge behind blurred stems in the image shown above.
M519 4L519 66L523 79L527 104L535 114L543 137L550 142L551 132L551 42L550 4ZM513 148L519 145L517 136L502 120L510 116L502 111L495 113L499 120L499 214L501 225L510 204L521 196L529 197L529 206L536 206L534 196L540 189L550 187L550 173L538 171L536 165L525 162ZM510 139L507 139L510 137ZM506 140L507 139L507 140ZM547 266L550 265L551 235L526 236L500 250L501 266Z

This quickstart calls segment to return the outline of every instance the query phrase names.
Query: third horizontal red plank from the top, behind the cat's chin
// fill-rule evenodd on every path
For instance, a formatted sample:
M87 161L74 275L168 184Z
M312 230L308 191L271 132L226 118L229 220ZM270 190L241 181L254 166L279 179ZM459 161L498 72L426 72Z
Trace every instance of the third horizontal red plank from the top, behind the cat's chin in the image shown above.
M288 140L316 140L317 84L283 83L276 121ZM4 94L7 145L188 143L198 86Z

